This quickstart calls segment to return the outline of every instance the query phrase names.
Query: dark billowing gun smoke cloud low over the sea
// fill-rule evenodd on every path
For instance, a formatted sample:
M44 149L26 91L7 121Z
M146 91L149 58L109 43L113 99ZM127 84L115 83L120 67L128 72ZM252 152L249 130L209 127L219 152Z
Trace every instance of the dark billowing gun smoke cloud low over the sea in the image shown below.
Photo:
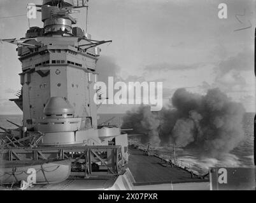
M123 127L145 134L143 141L152 145L174 143L218 157L243 140L244 113L241 103L231 101L219 89L210 89L206 95L178 89L169 107L160 112L150 112L147 106L127 112Z

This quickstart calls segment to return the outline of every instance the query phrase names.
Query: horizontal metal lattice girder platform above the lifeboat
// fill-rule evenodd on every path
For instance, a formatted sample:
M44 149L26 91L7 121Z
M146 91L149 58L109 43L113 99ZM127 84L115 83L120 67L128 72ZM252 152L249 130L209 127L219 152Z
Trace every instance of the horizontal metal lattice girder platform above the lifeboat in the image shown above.
M50 160L71 159L73 164L83 161L85 177L92 174L92 163L101 162L106 173L116 176L123 168L121 146L62 146L62 147L13 147L1 150L1 159L12 160Z

